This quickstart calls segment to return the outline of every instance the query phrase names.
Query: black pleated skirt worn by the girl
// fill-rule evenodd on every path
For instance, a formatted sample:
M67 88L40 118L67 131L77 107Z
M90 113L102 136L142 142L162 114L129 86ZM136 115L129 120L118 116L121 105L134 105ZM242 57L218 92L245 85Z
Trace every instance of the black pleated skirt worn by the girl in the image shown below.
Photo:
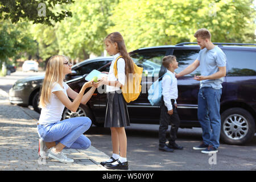
M122 91L107 93L106 117L104 127L130 126L127 104L123 98Z

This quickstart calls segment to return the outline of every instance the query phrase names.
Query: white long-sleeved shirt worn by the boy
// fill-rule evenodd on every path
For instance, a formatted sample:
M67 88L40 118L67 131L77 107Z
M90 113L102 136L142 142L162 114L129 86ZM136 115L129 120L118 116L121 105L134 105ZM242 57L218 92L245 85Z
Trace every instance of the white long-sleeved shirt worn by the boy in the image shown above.
M167 72L171 75L164 75L163 82L162 82L162 88L163 88L163 100L164 105L166 105L168 110L172 110L172 102L171 99L175 100L175 104L177 103L177 97L178 97L178 90L177 90L177 78L175 77L175 74L171 71L167 70Z

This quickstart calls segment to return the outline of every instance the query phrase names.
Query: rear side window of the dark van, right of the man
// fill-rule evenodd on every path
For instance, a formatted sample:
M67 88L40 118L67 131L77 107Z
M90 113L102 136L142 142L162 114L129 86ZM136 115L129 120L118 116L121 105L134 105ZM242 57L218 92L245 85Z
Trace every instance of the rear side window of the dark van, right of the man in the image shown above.
M227 76L255 76L256 52L225 50Z

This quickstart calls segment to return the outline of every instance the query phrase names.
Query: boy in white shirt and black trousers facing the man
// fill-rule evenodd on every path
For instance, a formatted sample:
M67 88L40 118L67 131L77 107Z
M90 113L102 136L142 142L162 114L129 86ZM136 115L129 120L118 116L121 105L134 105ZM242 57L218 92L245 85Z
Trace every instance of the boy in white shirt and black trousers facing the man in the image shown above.
M175 143L177 138L177 130L180 125L180 118L177 114L177 78L175 77L175 69L178 63L175 56L163 57L163 66L167 68L167 73L163 76L162 88L163 99L160 104L160 121L159 121L159 150L166 152L174 152L174 149L182 150L183 147ZM168 146L166 145L166 131L171 123L170 139Z

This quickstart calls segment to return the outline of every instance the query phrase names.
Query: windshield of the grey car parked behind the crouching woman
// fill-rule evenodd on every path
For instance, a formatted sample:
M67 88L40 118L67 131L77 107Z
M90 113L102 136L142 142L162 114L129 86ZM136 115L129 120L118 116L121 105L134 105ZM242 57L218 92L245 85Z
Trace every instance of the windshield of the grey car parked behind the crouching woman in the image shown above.
M107 63L109 63L108 60L106 60L106 61L98 60L95 62L81 65L79 68L75 69L75 71L77 71L77 75L84 75L84 74L90 73L91 71L93 71L93 69L101 68L102 66L104 66Z

